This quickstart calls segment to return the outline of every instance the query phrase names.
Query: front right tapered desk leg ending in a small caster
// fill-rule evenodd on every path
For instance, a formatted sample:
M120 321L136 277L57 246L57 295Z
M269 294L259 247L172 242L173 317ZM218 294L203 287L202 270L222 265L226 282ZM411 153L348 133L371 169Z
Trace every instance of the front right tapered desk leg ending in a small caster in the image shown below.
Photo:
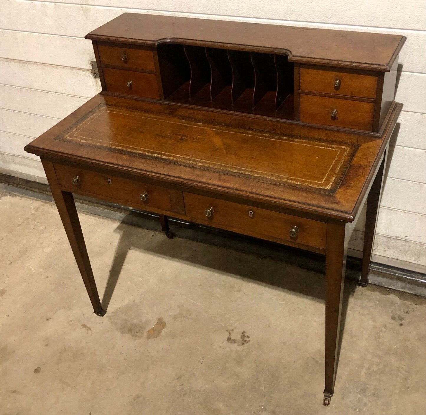
M325 406L330 404L336 379L346 253L345 223L328 223L325 253Z

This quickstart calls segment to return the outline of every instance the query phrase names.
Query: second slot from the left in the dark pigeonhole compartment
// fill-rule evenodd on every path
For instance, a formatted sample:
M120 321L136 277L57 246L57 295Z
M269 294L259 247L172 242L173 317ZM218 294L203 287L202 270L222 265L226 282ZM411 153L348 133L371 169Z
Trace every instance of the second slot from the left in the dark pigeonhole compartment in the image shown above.
M210 64L207 61L206 50L200 46L185 46L185 54L191 68L189 94L194 105L211 106Z

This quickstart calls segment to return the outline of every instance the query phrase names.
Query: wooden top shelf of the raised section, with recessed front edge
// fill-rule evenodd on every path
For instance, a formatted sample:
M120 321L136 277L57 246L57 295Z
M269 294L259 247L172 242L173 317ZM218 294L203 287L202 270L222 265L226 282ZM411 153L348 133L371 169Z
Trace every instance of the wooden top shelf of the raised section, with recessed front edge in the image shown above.
M287 53L289 61L389 71L406 38L229 20L124 13L86 38L157 46L164 42Z

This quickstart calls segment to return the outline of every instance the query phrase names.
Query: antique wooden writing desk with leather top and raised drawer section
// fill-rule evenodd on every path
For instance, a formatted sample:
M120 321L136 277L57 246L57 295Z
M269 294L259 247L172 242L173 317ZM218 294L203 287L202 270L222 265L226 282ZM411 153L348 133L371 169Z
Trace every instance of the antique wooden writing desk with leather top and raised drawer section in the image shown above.
M368 270L405 37L124 14L89 33L102 92L37 154L95 313L72 193L325 254L334 392L348 239L367 200Z

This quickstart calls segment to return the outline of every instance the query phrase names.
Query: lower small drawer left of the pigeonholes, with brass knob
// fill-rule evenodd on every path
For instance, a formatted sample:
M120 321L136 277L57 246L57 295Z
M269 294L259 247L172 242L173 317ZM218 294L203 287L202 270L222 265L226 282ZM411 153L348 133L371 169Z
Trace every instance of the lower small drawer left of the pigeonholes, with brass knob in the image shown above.
M159 99L157 78L152 73L104 68L106 90L116 94Z

